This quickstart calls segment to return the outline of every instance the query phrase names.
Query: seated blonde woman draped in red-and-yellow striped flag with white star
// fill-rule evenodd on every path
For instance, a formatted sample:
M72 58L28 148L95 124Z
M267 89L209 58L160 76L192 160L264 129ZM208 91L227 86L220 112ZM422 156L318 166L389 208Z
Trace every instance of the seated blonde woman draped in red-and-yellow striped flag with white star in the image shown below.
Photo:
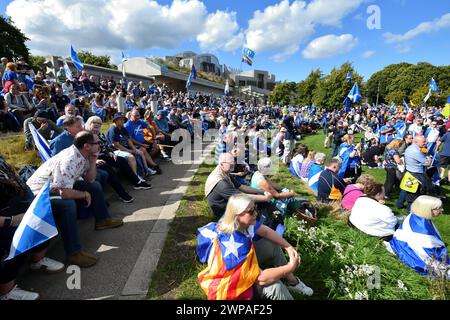
M289 262L282 248L289 254ZM218 223L198 229L197 254L200 262L208 263L198 275L208 300L292 300L289 290L313 294L293 274L300 264L297 251L256 221L255 204L245 194L230 197ZM273 267L260 267L267 263Z

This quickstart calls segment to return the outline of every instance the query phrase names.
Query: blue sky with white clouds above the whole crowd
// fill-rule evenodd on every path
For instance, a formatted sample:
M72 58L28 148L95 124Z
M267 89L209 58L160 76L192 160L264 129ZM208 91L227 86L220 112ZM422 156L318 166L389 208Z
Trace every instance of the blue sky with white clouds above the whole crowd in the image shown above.
M127 57L215 54L242 70L301 81L351 62L367 80L386 65L450 65L448 0L0 0L32 54L74 49ZM256 52L242 65L244 46Z

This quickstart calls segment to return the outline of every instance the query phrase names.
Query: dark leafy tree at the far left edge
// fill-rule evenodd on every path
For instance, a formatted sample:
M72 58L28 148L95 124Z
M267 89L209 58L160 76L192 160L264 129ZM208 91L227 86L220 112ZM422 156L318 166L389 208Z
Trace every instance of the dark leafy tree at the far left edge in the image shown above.
M28 39L20 29L14 26L11 18L0 15L0 57L6 57L9 61L14 58L24 57L28 61L30 52L25 45Z

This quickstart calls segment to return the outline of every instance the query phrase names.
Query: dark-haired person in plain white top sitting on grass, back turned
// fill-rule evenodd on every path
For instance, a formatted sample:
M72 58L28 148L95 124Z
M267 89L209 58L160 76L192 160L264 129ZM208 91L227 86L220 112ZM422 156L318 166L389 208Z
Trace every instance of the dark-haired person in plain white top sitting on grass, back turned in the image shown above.
M372 181L364 187L364 195L356 200L349 224L362 232L389 241L397 226L397 217L384 205L384 187Z

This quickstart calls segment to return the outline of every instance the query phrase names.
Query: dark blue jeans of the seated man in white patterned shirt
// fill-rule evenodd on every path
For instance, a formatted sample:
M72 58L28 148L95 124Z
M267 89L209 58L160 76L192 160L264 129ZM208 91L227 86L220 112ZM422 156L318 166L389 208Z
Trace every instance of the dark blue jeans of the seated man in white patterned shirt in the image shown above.
M74 190L87 191L91 194L90 209L95 217L95 222L110 217L106 208L103 189L98 182L77 181ZM81 250L80 234L77 222L77 206L84 206L83 201L70 199L52 199L51 206L56 225L64 242L66 255L73 255Z

